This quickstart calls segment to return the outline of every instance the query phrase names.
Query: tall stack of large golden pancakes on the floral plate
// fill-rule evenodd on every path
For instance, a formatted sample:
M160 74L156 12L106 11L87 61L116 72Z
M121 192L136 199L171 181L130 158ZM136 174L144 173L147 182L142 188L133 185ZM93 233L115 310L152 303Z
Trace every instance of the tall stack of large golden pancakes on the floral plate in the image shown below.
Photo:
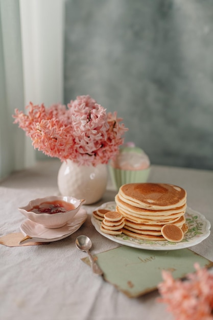
M136 239L165 240L161 228L175 224L183 233L186 191L169 184L135 183L123 185L115 196L116 211L125 217L123 234Z

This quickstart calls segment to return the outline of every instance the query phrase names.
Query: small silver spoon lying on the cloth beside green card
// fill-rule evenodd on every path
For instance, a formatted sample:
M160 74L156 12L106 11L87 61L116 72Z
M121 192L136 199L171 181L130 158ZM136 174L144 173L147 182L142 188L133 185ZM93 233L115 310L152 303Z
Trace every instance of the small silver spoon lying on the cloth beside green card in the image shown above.
M98 264L94 261L89 249L92 246L91 240L87 236L78 236L76 238L76 246L78 249L85 251L89 256L89 261L91 263L91 268L96 275L103 275L103 271L100 269Z

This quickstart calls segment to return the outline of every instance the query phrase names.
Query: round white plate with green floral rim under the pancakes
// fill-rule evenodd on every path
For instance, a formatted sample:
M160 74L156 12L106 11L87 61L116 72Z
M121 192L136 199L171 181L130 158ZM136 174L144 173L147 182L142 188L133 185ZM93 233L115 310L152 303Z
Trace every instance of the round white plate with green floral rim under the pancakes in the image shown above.
M98 209L109 209L110 211L115 210L115 202L110 201L103 203ZM184 235L181 242L169 242L165 241L150 241L150 240L139 240L132 237L126 236L123 233L121 235L108 235L100 230L101 221L91 217L91 222L96 230L104 237L127 246L131 246L139 249L147 250L176 250L188 248L202 242L210 235L210 222L201 213L194 211L191 208L186 209L185 213L186 223L188 225L188 231Z

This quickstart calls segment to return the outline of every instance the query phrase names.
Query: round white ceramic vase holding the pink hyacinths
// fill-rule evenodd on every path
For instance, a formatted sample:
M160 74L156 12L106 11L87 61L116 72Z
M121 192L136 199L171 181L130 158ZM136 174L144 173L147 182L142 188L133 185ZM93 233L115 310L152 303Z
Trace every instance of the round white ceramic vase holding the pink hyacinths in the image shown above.
M71 160L61 164L58 188L63 196L85 199L85 204L99 201L107 186L107 165L78 166Z

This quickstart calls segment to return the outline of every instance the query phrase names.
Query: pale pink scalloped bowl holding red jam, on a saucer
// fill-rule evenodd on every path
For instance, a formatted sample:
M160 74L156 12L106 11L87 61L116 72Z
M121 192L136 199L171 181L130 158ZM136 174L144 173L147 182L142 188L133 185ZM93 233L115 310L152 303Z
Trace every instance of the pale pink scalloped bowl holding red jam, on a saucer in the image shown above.
M65 201L67 203L73 204L74 209L68 210L66 212L58 212L54 214L49 213L35 213L32 210L36 205L40 205L43 202L53 202L53 201ZM49 196L44 198L37 198L31 200L26 206L18 208L19 212L26 216L28 219L44 225L46 228L59 228L65 225L68 221L77 214L81 205L85 202L84 199L76 199L74 197L68 196Z

